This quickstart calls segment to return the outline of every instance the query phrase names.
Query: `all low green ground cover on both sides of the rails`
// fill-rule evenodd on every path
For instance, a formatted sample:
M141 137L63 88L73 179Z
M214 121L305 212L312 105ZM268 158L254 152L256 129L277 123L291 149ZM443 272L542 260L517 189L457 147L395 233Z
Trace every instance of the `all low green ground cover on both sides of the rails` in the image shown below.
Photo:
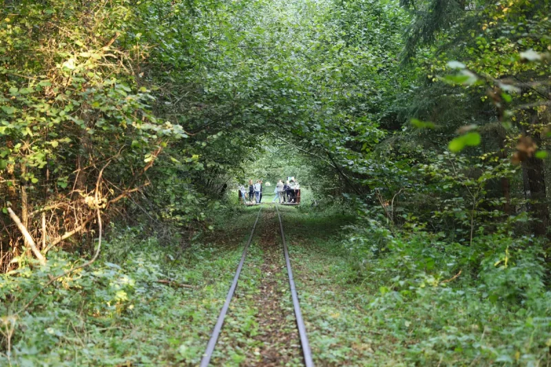
M98 261L54 282L19 315L51 277L82 260L60 251L45 268L1 275L0 366L197 365L258 209L227 207L211 223L215 230L191 244L114 228ZM280 212L316 365L551 364L551 294L532 238L478 235L466 247L438 234L391 231L340 205ZM263 218L215 365L262 357L258 233L277 225ZM284 268L275 280L284 294L276 302L293 324Z

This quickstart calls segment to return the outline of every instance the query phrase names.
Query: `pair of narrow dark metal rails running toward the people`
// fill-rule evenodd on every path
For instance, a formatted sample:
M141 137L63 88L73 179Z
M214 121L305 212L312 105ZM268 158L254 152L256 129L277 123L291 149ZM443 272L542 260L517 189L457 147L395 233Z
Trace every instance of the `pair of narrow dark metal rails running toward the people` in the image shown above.
M275 210L278 212L278 220L280 223L280 231L281 231L281 239L283 243L283 254L285 257L285 264L287 265L287 275L289 276L289 287L291 289L291 297L293 299L293 308L295 310L295 319L297 322L297 328L298 333L300 335L300 345L302 346L302 355L304 357L304 365L306 367L313 367L313 361L312 361L312 354L310 350L310 344L308 342L308 337L306 336L306 326L304 326L304 320L302 319L302 313L300 312L300 304L298 302L298 293L295 288L295 280L293 278L293 271L291 270L291 260L289 260L289 250L287 249L287 241L285 240L285 233L283 231L283 223L281 221L281 215L280 210L278 209L277 205L275 206ZM205 350L205 354L203 355L200 363L200 367L207 367L209 366L209 363L211 361L212 353L214 352L214 348L216 347L216 342L218 342L218 337L220 336L220 332L222 331L222 325L224 324L224 319L226 317L229 304L231 302L231 298L233 297L233 293L236 291L236 287L239 280L239 275L241 274L241 270L243 268L243 264L245 264L245 258L247 257L247 250L249 249L249 245L251 244L251 241L253 240L254 231L256 229L256 224L258 224L258 220L260 218L260 212L262 211L262 207L258 210L258 215L256 216L256 220L253 224L253 229L251 230L251 235L249 235L249 240L247 240L247 244L245 244L245 248L243 249L243 253L241 255L241 261L239 262L236 275L233 277L233 282L231 282L231 286L229 287L228 294L226 296L226 302L224 302L224 306L222 306L222 310L220 311L220 315L218 315L218 320L216 321L216 325L214 326L214 330L212 331L211 338L209 339L209 344L207 344L207 350Z

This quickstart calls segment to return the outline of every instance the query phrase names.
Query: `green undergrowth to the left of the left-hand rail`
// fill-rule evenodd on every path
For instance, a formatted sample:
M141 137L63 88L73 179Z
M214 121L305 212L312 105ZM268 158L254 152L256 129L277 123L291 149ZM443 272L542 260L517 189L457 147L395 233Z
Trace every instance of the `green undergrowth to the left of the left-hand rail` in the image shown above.
M255 216L245 210L219 223L209 242L185 248L114 229L100 260L54 282L19 315L50 277L80 261L52 253L43 269L1 275L0 365L198 364Z

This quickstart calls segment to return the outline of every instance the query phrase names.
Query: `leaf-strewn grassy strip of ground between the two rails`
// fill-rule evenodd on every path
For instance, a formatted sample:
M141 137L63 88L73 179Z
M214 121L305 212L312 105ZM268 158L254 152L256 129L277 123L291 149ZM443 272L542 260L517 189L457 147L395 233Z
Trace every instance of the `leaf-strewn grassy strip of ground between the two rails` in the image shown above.
M305 364L287 283L286 262L282 256L278 215L271 208L262 209L261 216L258 235L249 248L239 286L216 346L213 360L216 365L231 362L242 366ZM303 325L301 327L304 329ZM309 355L305 333L304 342ZM202 366L207 363L203 359Z

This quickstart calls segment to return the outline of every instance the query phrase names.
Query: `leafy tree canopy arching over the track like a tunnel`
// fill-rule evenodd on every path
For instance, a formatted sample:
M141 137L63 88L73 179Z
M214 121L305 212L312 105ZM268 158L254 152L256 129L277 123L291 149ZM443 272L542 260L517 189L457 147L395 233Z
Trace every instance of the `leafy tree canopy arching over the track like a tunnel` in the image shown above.
M510 214L517 198L538 202L530 207L533 229L545 235L546 153L536 151L546 144L548 116L538 106L548 98L541 87L548 39L535 34L547 34L540 15L548 1L503 19L484 1L479 12L455 1L438 5L7 1L0 10L5 212L14 208L42 251L94 227L96 209L116 213L132 200L160 213L156 220L186 227L204 220L208 202L220 198L207 183L236 177L271 141L311 158L306 165L380 206L389 220L396 216L385 207L415 193L408 205L417 211L426 204L422 220L444 213L434 230L454 222L471 229L472 242L475 209L484 221L495 200L504 198L497 210ZM484 25L496 17L503 27L535 20L530 32L515 33L513 49L477 45L498 38L501 25ZM488 29L484 40L476 39L479 24ZM466 46L453 41L464 34L474 37ZM488 64L496 54L507 55L503 63L518 70L516 81ZM515 145L519 135L526 138ZM464 148L462 156L449 153ZM506 165L513 154L525 172L522 190L514 187L518 172ZM497 160L485 165L488 156ZM484 188L473 191L467 178ZM450 192L442 180L459 183ZM488 205L479 205L486 186ZM441 200L425 200L436 191ZM470 220L441 204L456 194ZM28 241L6 213L0 236L9 261ZM401 224L421 218L404 215Z

